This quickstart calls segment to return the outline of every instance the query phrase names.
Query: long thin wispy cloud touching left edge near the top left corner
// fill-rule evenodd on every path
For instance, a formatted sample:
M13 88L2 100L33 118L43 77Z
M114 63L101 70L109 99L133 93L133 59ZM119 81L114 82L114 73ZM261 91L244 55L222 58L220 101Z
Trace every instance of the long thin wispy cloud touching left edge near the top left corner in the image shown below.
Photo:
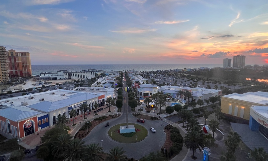
M9 11L3 10L0 11L0 15L4 16L6 18L13 18L13 19L38 19L40 22L47 22L47 18L44 16L36 16L30 13L19 13L19 14L13 14Z

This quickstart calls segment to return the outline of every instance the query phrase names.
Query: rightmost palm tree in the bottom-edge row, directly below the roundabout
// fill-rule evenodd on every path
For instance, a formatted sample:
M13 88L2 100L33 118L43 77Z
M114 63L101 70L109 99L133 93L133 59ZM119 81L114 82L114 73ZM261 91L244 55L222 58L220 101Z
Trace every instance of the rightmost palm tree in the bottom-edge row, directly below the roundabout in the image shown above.
M126 151L123 151L123 147L119 149L119 147L113 147L109 150L109 153L107 153L107 161L123 161L127 160L126 155L123 155Z

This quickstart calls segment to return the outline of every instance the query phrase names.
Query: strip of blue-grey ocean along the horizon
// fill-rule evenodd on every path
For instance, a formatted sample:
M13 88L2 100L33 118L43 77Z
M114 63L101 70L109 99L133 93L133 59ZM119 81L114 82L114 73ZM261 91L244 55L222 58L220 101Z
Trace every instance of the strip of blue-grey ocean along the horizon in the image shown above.
M81 71L87 69L98 69L105 71L156 71L169 69L200 68L200 67L222 67L222 64L103 64L103 65L32 65L32 75L41 72L57 72L59 70Z

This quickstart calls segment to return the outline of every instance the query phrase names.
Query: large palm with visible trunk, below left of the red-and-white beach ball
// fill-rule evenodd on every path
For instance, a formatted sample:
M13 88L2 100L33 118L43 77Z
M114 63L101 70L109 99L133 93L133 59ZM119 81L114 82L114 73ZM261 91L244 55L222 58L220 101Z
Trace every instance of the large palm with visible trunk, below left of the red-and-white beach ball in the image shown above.
M199 149L201 151L201 148L199 147L199 144L202 143L202 137L200 136L200 133L198 131L189 131L184 138L184 145L187 149L190 149L193 151L193 159L195 158L194 152Z

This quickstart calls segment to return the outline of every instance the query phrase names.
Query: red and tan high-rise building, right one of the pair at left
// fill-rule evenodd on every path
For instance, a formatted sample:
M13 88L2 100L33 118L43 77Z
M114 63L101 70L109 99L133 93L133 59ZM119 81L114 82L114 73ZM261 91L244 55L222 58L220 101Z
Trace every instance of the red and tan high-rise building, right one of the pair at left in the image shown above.
M8 50L7 57L10 78L32 76L30 53L11 49Z

